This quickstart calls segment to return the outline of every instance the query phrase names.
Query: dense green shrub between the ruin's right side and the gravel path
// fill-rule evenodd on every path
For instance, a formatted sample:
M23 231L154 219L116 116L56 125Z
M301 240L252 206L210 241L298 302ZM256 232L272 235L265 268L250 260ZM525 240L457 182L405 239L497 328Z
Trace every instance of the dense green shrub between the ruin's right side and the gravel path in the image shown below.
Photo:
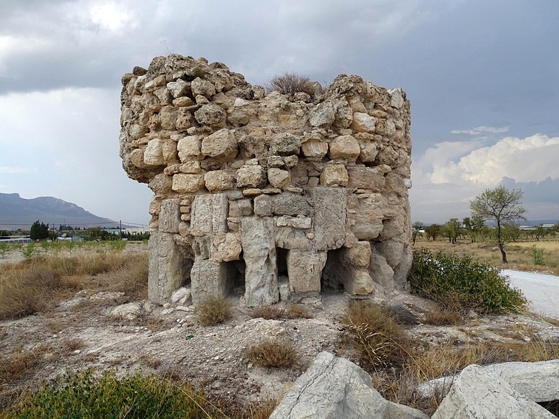
M482 312L521 309L526 299L507 284L498 268L474 262L469 256L414 251L409 272L412 292L439 302L442 307L458 306Z

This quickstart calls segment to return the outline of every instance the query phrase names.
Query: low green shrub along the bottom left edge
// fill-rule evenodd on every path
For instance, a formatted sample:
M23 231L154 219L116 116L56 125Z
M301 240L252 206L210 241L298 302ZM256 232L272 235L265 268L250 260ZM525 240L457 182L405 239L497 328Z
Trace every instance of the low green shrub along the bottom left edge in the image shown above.
M157 376L95 376L89 369L41 383L38 392L0 418L225 418L188 383Z

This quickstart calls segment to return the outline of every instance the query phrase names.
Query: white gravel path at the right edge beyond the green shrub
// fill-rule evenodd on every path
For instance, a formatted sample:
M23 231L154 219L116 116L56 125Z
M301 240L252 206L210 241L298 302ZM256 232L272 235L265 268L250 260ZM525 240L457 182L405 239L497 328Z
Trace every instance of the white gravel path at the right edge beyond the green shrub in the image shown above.
M509 269L501 272L512 286L522 290L532 311L559 320L559 277Z

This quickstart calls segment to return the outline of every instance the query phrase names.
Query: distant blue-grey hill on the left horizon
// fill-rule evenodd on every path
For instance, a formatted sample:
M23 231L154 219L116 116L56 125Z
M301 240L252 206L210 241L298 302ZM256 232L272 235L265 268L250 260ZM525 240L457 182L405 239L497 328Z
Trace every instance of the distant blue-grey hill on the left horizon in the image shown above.
M80 228L118 226L117 221L96 216L52 196L24 199L18 193L0 193L0 230L28 229L37 220L56 227L59 224Z

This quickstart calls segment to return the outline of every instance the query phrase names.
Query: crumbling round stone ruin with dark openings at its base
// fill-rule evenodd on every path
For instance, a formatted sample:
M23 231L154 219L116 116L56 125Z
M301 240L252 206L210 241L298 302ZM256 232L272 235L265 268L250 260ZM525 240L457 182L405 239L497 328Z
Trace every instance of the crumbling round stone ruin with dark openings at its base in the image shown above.
M402 89L339 75L267 93L171 54L122 78L122 166L154 192L150 300L190 284L248 307L401 291L412 185Z

